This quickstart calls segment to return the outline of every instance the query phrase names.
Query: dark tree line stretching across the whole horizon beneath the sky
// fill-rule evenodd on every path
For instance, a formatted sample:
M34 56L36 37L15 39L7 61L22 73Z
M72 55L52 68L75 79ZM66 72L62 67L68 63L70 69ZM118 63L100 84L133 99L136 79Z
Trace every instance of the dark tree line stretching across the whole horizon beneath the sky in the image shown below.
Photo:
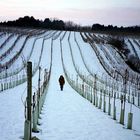
M129 32L140 33L140 26L132 27L117 27L113 25L93 24L92 26L81 26L72 21L64 22L59 19L46 18L44 21L35 19L33 16L20 17L14 21L0 22L3 26L26 27L26 28L45 28L54 30L69 30L69 31L97 31L97 32Z

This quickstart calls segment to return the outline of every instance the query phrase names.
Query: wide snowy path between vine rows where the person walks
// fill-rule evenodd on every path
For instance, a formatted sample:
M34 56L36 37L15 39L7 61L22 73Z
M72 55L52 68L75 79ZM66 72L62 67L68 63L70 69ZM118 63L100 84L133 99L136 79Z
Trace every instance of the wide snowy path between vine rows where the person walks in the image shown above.
M102 111L77 94L66 82L60 91L63 74L59 40L53 43L52 74L40 122L40 140L138 140L132 130L124 129Z

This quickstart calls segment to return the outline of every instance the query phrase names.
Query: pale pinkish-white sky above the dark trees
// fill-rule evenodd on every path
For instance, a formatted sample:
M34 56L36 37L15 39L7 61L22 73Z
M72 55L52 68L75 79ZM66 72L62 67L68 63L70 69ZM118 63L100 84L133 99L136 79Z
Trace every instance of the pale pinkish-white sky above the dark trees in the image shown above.
M0 21L26 15L81 25L140 25L140 0L0 0Z

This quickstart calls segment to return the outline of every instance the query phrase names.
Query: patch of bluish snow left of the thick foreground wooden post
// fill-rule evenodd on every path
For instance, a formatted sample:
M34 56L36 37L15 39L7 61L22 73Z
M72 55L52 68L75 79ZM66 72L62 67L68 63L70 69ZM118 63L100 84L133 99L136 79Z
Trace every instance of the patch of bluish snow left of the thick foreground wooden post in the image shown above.
M24 106L21 101L26 83L0 94L0 139L17 140L23 136Z

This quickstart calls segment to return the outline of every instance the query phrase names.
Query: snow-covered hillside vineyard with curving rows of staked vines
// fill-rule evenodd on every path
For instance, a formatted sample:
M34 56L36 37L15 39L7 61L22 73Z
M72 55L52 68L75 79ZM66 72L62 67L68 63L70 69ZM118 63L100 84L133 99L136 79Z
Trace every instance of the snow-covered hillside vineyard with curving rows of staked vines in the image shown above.
M109 44L116 36L0 27L0 139L28 140L27 67L32 62L32 136L139 140L140 73L126 61L133 55L140 62L140 38L120 38L127 56ZM63 91L60 75L66 81Z

